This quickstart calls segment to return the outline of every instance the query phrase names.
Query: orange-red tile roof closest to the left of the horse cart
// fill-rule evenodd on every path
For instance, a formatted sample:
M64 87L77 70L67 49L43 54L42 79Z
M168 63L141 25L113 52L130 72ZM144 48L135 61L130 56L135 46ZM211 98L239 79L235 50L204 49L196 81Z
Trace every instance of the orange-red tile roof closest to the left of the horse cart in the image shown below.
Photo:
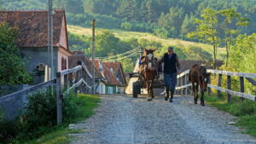
M125 80L125 73L123 71L123 67L122 67L122 64L120 62L103 62L103 65L107 66L108 69L111 69L113 70L113 75L115 77L117 77L118 75L118 72L120 70L121 72L121 77L123 78L123 81L124 81L124 84L123 86L126 86L127 83L126 83L126 80Z

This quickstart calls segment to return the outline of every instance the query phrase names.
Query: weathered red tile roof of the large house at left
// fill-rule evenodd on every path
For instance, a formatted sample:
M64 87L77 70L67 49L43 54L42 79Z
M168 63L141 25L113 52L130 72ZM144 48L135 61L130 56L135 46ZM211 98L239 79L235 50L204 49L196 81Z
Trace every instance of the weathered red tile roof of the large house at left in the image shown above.
M54 10L54 46L61 37L61 23L65 19L65 11ZM0 11L0 22L16 26L19 30L17 44L19 47L47 47L48 12L37 11Z

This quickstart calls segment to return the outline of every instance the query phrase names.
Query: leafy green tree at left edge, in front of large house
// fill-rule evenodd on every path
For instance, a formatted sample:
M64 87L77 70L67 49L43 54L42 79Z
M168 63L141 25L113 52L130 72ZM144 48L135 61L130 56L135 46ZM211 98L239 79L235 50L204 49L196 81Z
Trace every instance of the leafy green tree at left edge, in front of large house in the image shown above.
M0 23L0 86L26 84L31 79L15 44L16 36L15 28Z

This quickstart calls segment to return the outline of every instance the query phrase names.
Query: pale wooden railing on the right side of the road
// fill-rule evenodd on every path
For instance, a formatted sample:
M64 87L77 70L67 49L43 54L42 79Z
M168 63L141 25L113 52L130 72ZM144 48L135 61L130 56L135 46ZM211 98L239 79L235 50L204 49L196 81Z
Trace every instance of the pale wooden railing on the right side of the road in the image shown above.
M211 89L217 89L217 95L220 97L220 93L224 92L228 94L228 102L231 102L231 95L236 95L241 97L242 99L248 99L252 101L256 101L256 95L250 95L244 93L244 78L255 85L255 81L253 78L256 78L256 73L244 73L244 72L227 72L227 71L218 71L218 70L207 70L207 72L218 74L218 85L212 85L211 79L209 80L208 94L211 93ZM227 77L227 87L228 89L224 89L221 87L222 77L225 75ZM240 78L240 92L231 90L231 77L239 77ZM191 95L192 84L189 84L189 70L177 75L177 95Z

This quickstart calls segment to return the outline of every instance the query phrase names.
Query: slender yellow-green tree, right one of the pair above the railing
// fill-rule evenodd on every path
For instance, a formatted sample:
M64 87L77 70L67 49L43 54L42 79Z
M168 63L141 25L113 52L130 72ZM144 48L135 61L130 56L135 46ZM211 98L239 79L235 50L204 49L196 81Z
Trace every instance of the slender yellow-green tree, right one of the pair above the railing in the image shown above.
M221 14L224 17L222 25L224 27L224 43L226 47L225 66L228 66L230 46L238 34L237 26L247 26L248 20L236 13L235 9L219 10L218 14Z

